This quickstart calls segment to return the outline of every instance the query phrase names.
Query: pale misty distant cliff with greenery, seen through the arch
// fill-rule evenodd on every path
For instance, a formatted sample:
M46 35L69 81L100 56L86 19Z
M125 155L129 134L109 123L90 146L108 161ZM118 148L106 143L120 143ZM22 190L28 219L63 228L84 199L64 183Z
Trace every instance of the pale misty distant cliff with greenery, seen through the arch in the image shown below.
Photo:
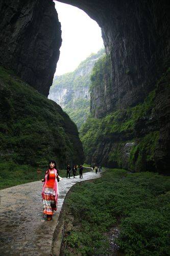
M96 61L104 55L104 49L96 54L91 54L88 58L80 63L74 72L70 72L54 78L53 85L50 89L49 98L56 100L69 117L76 123L78 129L86 121L90 112L90 73ZM59 93L66 90L60 103L56 98ZM55 96L56 95L56 96Z

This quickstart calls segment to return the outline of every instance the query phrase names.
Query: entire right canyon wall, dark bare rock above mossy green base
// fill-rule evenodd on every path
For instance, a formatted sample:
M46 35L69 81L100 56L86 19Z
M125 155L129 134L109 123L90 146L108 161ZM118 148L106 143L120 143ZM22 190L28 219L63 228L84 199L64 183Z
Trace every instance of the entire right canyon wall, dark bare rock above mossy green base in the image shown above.
M110 70L106 69L101 79L100 75L93 79L90 110L94 119L81 131L82 138L87 140L89 136L90 150L83 141L86 161L102 161L107 166L126 167L136 172L156 170L167 174L169 121L165 121L165 115L169 116L169 75L166 82L157 81L169 67L169 2L60 2L83 9L98 22L110 62ZM144 109L147 103L143 101L147 102L147 96L155 88L155 98L152 104L148 103L147 112ZM143 107L140 104L144 104ZM142 109L143 116L135 112L136 119L132 113L138 108Z

